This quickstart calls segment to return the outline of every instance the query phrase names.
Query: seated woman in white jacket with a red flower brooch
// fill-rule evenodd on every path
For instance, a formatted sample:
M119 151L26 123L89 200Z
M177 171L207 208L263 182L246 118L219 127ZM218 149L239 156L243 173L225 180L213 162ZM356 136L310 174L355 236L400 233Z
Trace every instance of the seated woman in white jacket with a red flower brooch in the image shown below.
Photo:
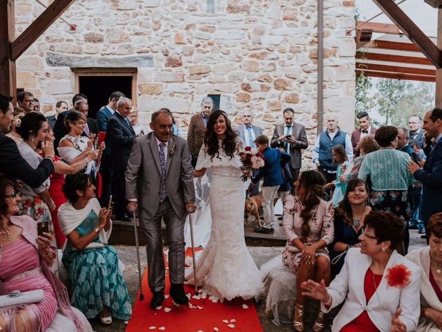
M332 332L414 331L419 320L421 268L394 250L403 241L403 223L392 212L365 216L361 248L347 252L329 287L308 280L302 294L321 301L328 312L344 302Z

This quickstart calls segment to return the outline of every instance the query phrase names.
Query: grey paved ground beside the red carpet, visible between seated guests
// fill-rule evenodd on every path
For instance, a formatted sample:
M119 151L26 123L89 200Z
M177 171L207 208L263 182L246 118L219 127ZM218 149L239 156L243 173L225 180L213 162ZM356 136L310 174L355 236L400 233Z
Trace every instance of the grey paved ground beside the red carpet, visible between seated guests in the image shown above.
M416 230L410 231L410 250L413 248L418 248L421 246L425 246L425 240L421 239L420 235L417 234ZM134 302L135 295L138 289L138 274L137 274L137 259L136 259L136 250L133 246L115 246L117 252L119 254L119 258L123 261L126 266L126 270L124 271L124 277L126 279L126 283L128 286L129 294L131 294L131 300ZM141 251L142 264L146 262L146 252L145 250ZM261 264L269 261L269 259L275 257L276 255L280 255L282 252L282 247L249 247L249 251L253 259L255 260L258 268ZM146 290L147 291L147 290ZM148 303L146 302L146 305ZM282 326L275 326L271 322L271 317L265 314L265 304L260 303L257 304L258 315L260 317L260 321L262 324L262 328L265 332L291 332L293 329L289 324L285 324ZM305 317L307 321L314 320L314 317ZM126 325L124 322L119 320L115 320L111 326L102 326L99 323L99 320L93 320L91 322L93 324L93 328L97 332L123 332L125 330ZM311 332L311 324L307 324L305 332ZM329 330L326 330L329 331ZM197 332L197 331L183 331L183 332ZM244 332L252 332L252 331L244 331Z

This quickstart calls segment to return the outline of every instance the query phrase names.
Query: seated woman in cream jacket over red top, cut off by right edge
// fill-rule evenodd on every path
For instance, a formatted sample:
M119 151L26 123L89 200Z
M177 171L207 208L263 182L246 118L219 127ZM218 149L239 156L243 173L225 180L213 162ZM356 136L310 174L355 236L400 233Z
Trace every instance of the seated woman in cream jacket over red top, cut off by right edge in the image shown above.
M422 268L421 319L417 332L442 329L442 213L428 220L429 246L413 250L406 257Z

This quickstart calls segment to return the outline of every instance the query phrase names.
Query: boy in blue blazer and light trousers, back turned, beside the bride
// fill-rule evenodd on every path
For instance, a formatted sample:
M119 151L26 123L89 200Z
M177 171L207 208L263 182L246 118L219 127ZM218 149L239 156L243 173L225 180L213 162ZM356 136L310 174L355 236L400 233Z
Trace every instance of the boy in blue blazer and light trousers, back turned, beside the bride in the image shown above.
M291 156L278 148L269 147L269 138L265 135L258 136L255 145L264 156L265 165L261 167L258 175L252 178L253 185L259 183L260 178L264 177L262 185L262 210L264 211L264 224L262 227L256 227L253 232L273 233L273 222L275 211L273 209L273 200L275 199L278 188L285 183L282 167L287 164Z

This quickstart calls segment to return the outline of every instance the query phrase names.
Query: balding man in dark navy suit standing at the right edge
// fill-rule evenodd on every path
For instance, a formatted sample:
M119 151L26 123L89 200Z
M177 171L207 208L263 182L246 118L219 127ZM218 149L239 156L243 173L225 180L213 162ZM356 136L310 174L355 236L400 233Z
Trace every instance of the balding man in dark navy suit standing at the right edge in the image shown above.
M422 128L427 138L436 140L436 145L427 157L423 169L410 161L408 171L423 185L421 213L426 228L430 216L442 212L442 109L436 108L425 113Z

